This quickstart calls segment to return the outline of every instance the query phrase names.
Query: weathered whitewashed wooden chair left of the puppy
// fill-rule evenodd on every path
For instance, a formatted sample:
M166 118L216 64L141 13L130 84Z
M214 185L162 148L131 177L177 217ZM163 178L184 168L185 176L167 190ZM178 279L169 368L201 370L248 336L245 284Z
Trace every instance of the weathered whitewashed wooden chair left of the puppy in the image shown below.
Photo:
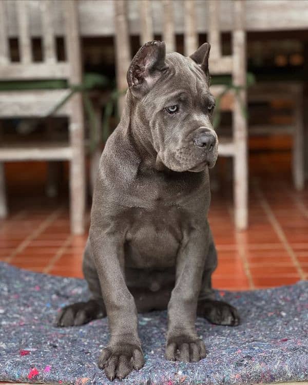
M57 3L64 17L66 61L57 60L56 31L53 29L53 2L38 2L42 20L43 61L32 59L28 1L0 2L0 81L67 80L69 85L81 84L82 68L77 2L66 0ZM15 7L18 24L18 46L20 61L12 62L7 25L8 8ZM36 36L35 36L36 37ZM27 90L0 92L0 118L45 117L70 92L69 89ZM0 216L7 215L4 188L4 162L47 160L68 160L70 162L70 221L73 234L84 232L85 211L85 157L84 157L84 115L82 97L73 97L56 112L57 116L69 119L69 143L42 143L27 146L24 143L8 148L0 146Z

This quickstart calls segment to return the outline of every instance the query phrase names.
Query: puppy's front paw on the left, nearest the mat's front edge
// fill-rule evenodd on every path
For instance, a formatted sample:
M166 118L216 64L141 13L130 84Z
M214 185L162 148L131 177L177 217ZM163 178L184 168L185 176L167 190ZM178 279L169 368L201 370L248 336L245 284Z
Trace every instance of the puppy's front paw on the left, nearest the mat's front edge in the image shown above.
M114 378L122 380L134 369L141 369L143 364L140 347L127 342L108 345L99 358L99 368L105 370L110 381Z

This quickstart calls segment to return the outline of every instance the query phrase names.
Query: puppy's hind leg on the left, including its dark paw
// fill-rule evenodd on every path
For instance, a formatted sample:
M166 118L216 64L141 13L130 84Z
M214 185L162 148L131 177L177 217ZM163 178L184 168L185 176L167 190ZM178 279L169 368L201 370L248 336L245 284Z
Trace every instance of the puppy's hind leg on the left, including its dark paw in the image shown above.
M106 317L107 315L99 277L93 263L89 240L84 251L83 273L88 283L92 299L87 302L76 302L65 306L57 318L57 326L79 326L93 319Z

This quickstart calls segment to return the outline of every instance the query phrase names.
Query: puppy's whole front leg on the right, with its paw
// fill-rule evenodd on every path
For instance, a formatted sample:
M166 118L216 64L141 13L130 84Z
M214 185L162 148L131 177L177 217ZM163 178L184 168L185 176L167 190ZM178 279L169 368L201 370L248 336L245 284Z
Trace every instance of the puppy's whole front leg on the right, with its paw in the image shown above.
M177 256L176 285L168 304L166 358L199 361L206 355L204 342L196 334L198 295L208 249L208 229L194 229L183 239Z

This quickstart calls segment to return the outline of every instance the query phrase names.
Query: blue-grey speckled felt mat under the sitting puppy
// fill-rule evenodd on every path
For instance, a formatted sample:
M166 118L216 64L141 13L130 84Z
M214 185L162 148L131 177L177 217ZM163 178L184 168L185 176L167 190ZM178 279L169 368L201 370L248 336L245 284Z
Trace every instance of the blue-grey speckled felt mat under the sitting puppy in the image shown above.
M238 308L242 323L230 328L198 318L197 330L208 349L205 359L166 361L166 313L140 315L145 365L124 382L218 385L308 380L308 281L253 292L220 291L216 296ZM109 383L97 367L108 340L107 320L74 328L53 326L61 306L87 297L83 280L0 263L0 381Z

